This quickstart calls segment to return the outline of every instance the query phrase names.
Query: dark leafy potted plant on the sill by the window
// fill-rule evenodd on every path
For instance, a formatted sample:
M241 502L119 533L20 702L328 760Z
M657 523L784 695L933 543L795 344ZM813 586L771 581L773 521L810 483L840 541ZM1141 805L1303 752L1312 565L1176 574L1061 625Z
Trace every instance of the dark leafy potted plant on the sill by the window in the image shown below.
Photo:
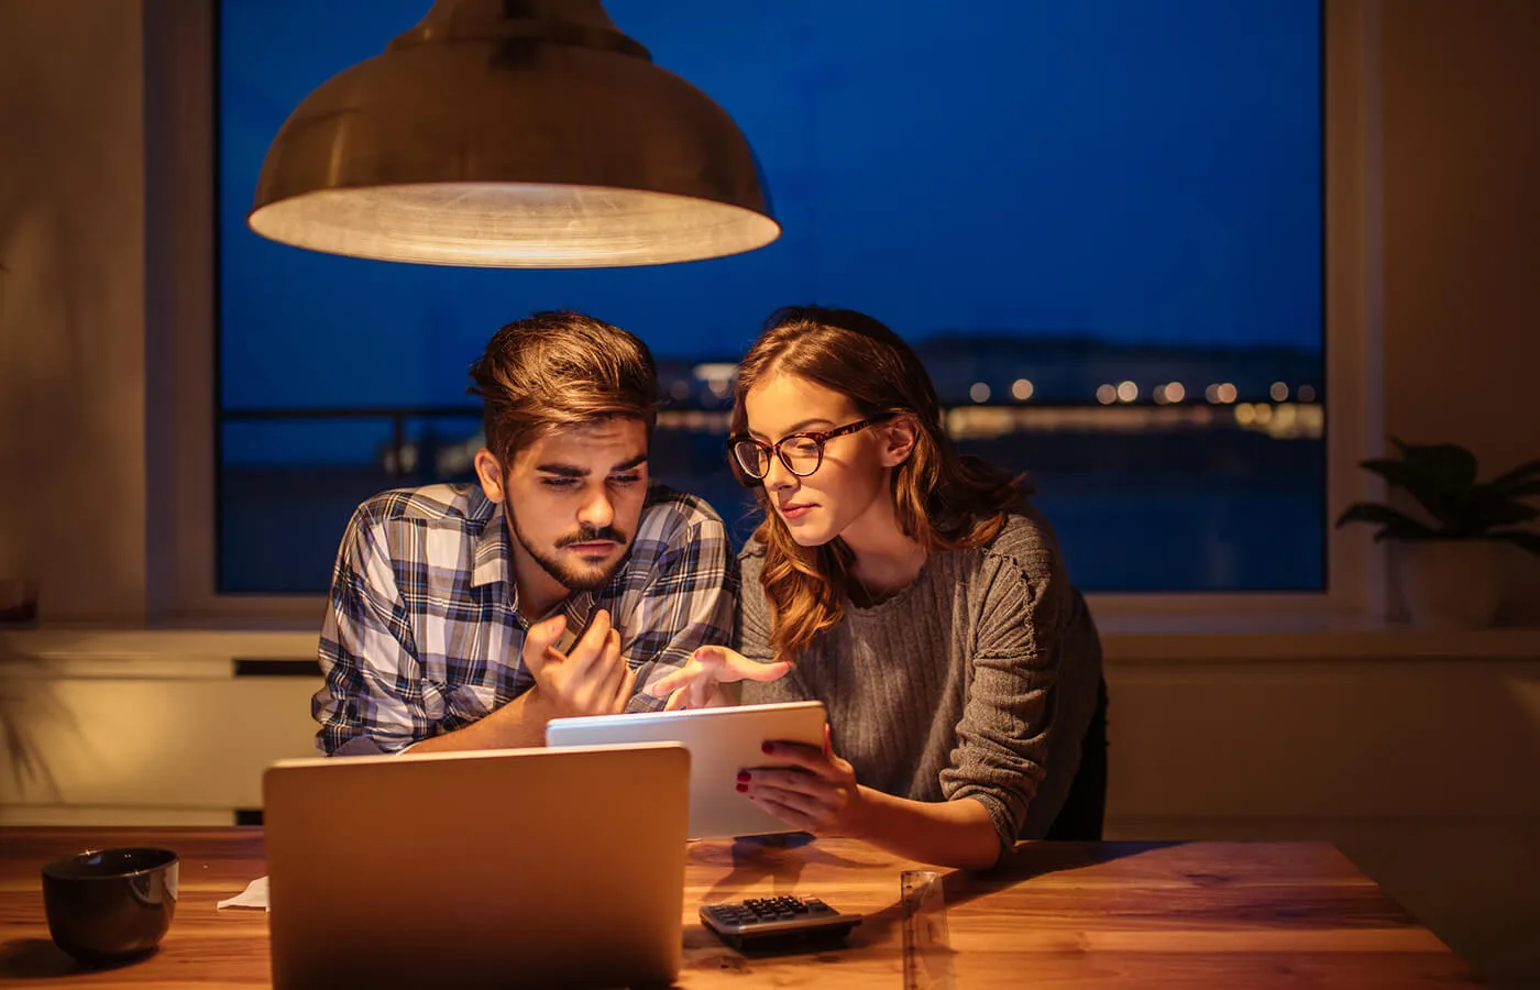
M1540 533L1520 528L1540 516L1526 502L1540 496L1540 460L1478 482L1475 454L1457 443L1391 442L1400 459L1363 460L1358 467L1409 494L1429 522L1389 505L1357 502L1337 517L1337 525L1377 525L1375 542L1394 540L1403 550L1401 593L1414 624L1489 625L1500 600L1497 547L1514 543L1540 556Z

